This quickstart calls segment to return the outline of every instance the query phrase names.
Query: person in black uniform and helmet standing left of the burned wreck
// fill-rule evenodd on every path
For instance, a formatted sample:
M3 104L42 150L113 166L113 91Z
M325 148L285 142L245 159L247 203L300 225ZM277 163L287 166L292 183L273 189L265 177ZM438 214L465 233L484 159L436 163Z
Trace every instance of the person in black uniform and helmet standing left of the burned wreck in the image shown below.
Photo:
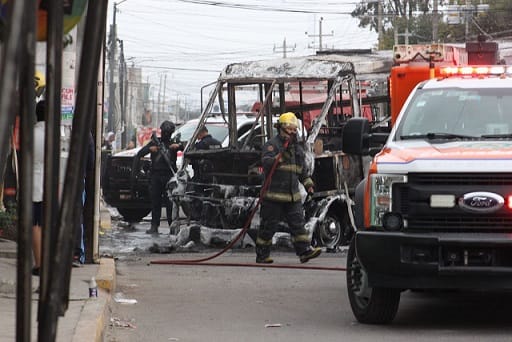
M164 121L160 125L161 137L150 140L137 153L132 166L132 184L139 172L140 158L151 153L151 228L146 230L148 234L158 234L160 226L160 217L162 213L162 203L165 204L167 212L167 222L169 227L172 222L172 206L167 196L167 183L172 174L176 172L176 158L178 151L183 151L181 143L171 140L175 125L171 121Z

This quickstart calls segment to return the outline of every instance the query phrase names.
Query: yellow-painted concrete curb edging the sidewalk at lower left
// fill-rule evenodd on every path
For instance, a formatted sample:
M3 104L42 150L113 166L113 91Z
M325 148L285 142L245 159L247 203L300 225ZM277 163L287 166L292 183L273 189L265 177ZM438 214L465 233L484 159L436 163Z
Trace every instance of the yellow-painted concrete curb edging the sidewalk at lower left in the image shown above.
M98 284L98 298L88 299L80 313L72 342L102 342L105 329L107 308L115 289L115 262L114 259L101 258L96 283Z

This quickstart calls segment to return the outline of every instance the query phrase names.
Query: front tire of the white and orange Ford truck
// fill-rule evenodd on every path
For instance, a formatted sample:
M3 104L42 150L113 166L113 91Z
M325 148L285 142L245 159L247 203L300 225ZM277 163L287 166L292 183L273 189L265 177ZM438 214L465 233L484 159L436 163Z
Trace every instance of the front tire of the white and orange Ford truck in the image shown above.
M360 323L387 324L395 318L401 291L368 286L368 276L356 255L355 237L347 255L347 291L352 312Z

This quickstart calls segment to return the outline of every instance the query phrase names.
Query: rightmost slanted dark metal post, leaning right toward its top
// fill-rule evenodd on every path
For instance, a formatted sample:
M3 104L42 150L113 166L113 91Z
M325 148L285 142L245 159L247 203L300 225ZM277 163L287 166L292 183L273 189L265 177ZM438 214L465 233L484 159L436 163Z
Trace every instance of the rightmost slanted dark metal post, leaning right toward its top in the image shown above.
M80 200L85 167L85 154L92 121L91 113L95 108L89 108L95 97L97 84L97 71L101 54L104 27L106 22L108 3L103 0L90 0L87 9L85 35L80 60L78 78L78 92L76 112L73 117L73 131L71 134L70 155L76 158L68 161L64 189L62 192L62 207L59 215L58 235L55 256L51 260L51 267L55 273L64 274L61 277L52 277L48 287L48 306L45 310L44 320L51 327L50 334L44 336L48 341L55 341L57 315L62 315L67 309L67 303L62 301L69 295L69 272L71 271L71 257L73 246L74 217L79 214L77 203ZM43 324L43 322L42 322Z

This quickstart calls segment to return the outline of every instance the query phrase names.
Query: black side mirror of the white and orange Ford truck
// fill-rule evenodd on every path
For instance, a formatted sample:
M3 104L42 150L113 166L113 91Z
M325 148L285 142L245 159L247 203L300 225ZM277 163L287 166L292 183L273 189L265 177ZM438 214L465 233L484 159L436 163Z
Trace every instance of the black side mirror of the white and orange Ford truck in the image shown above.
M370 123L366 118L347 121L342 133L342 150L347 154L368 155L370 151Z

